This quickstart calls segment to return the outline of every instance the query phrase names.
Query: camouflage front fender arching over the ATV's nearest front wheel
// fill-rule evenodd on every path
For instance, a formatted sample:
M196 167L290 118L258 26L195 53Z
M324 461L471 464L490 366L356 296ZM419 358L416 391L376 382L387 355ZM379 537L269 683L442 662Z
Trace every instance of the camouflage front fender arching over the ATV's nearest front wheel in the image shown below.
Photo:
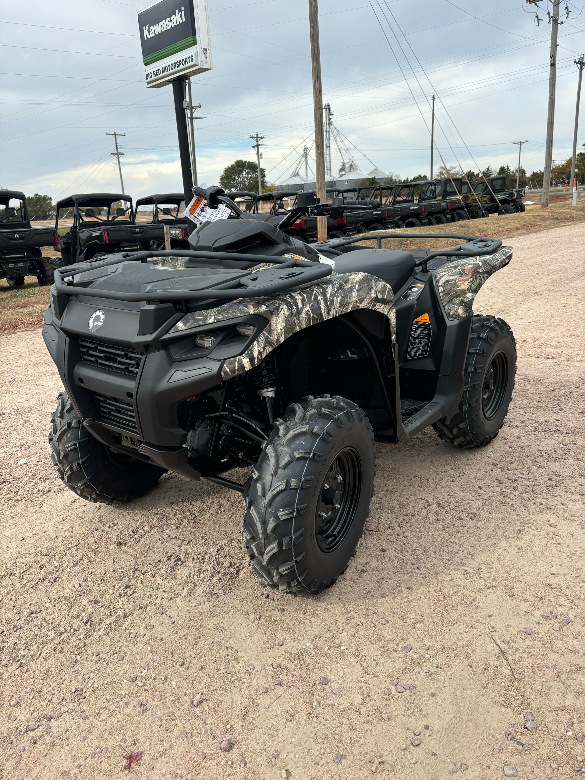
M259 365L275 347L294 333L311 325L356 309L371 309L385 314L390 321L392 343L395 342L395 307L392 288L376 276L363 273L335 274L321 282L291 290L274 298L241 298L223 303L215 309L186 314L170 333L186 331L200 325L261 314L268 325L243 355L225 360L222 378L231 379Z

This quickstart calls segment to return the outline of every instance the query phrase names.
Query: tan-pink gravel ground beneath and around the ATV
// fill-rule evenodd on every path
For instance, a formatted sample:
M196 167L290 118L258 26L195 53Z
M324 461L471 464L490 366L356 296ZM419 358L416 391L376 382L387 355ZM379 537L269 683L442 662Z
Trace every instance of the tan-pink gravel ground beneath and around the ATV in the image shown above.
M518 344L501 434L378 445L371 530L317 597L258 587L213 484L76 498L41 332L3 336L2 777L112 778L125 750L154 780L582 777L584 239L515 239L476 306Z

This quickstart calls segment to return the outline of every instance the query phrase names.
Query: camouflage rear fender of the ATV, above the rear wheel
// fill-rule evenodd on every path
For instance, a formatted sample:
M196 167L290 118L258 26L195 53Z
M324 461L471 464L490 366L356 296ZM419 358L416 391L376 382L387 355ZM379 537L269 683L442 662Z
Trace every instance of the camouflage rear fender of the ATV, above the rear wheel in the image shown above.
M473 299L495 271L512 260L512 246L502 246L485 257L466 257L443 265L435 273L441 301L449 320L459 320L470 313Z

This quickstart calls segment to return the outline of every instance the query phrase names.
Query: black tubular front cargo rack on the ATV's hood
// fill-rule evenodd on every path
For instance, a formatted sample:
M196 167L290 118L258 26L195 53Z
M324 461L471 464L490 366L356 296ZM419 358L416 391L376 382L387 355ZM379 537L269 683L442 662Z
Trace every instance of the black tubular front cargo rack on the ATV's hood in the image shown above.
M215 264L219 268L242 268L242 274L236 280L223 284L210 285L205 289L151 289L144 293L124 293L116 290L95 289L76 285L73 275L81 271L94 271L108 265L117 265L124 261L146 263L151 257L186 257L202 261L205 267ZM262 268L250 272L255 265ZM271 266L275 266L272 268ZM197 266L193 266L197 268ZM188 270L188 269L187 269ZM263 254L241 254L237 252L196 252L190 250L170 250L110 255L107 259L92 263L90 261L68 265L55 271L55 293L65 296L90 296L106 300L122 301L176 301L176 300L236 300L238 298L261 298L281 293L302 285L317 282L332 273L330 265L305 260L303 257L272 257Z

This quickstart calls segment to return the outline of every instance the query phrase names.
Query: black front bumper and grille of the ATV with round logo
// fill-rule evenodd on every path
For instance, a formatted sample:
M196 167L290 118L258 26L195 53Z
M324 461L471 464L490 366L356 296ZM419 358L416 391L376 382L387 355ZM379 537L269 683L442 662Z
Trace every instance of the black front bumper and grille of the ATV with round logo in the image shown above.
M92 333L88 323L98 306L104 324ZM183 347L193 344L193 332L179 334L171 349L137 348L138 318L138 310L72 300L61 321L47 310L43 338L69 399L95 438L197 479L187 462L184 410L187 399L222 384L224 360L185 357Z

